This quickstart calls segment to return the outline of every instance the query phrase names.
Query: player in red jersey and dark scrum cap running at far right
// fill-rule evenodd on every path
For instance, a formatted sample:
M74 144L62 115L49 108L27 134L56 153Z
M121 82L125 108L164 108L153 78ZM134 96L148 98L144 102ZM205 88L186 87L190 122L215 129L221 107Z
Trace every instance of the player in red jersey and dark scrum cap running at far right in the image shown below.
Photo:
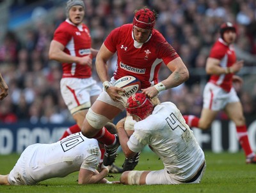
M230 22L220 26L220 38L212 46L206 62L206 72L211 75L204 89L204 108L201 117L185 115L189 127L208 129L220 110L236 124L237 137L246 155L246 164L256 164L256 155L250 147L243 107L232 82L242 83L235 74L243 68L243 61L236 61L232 43L236 40L236 28Z

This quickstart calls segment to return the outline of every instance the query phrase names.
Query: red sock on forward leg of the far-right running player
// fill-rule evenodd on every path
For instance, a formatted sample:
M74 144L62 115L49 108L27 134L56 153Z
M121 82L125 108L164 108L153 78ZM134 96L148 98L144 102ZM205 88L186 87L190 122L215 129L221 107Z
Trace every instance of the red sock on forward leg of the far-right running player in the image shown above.
M237 126L236 132L237 132L238 141L241 147L243 148L245 155L247 156L252 154L252 148L249 143L246 125Z

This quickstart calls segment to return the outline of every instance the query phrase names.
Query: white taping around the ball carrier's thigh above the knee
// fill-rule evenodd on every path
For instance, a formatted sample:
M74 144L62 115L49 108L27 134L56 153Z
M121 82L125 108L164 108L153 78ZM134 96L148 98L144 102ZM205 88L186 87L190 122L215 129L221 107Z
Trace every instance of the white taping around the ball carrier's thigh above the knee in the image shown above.
M110 121L109 118L95 113L90 108L88 110L88 113L86 114L86 120L95 129L101 129L106 123Z

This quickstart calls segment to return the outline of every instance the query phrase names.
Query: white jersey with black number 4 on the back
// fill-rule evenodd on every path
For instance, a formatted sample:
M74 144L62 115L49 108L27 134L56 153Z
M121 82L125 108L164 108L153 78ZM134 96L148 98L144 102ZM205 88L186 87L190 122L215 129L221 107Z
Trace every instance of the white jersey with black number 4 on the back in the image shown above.
M180 182L191 178L205 161L193 131L171 102L157 105L152 115L137 122L127 145L132 152L150 145L172 178Z

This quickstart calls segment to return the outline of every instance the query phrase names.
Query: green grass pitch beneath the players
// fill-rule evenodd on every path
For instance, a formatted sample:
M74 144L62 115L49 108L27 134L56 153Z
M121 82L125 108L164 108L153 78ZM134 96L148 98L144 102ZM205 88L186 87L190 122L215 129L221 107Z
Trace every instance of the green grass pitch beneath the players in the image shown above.
M0 155L0 174L5 175L10 172L19 155ZM40 182L33 186L5 186L0 185L0 192L29 192L29 193L64 193L64 192L198 192L198 193L246 193L256 192L256 164L245 164L243 152L230 154L213 154L205 152L207 168L200 184L182 184L182 185L120 185L120 184L93 184L77 185L77 173L68 175L65 178L52 178ZM116 164L122 165L124 154L119 153ZM136 169L154 170L162 169L163 164L159 158L152 153L143 152L140 162ZM119 180L120 174L109 174L108 180Z

